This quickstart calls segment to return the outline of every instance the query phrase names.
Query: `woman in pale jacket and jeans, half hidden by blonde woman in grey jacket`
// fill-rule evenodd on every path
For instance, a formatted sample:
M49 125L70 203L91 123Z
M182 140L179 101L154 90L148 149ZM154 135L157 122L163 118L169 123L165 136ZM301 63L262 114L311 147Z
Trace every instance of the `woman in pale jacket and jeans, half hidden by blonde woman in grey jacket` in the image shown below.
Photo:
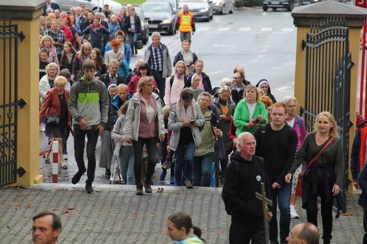
M117 156L117 161L119 161L119 166L121 170L121 176L126 185L135 185L135 175L134 175L134 150L133 145L126 142L125 135L125 116L128 110L128 101L119 109L117 121L114 125L114 130L112 130L111 137L116 142L116 147L114 153Z

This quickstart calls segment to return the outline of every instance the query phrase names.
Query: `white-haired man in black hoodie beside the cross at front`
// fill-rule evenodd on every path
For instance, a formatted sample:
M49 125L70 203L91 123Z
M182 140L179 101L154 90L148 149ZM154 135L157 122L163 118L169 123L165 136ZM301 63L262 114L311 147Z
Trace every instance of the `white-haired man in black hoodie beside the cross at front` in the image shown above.
M229 243L266 243L263 203L255 197L265 184L266 197L270 197L265 161L255 155L256 141L251 133L243 132L237 138L237 151L227 167L222 199L231 215ZM267 212L270 221L272 212Z

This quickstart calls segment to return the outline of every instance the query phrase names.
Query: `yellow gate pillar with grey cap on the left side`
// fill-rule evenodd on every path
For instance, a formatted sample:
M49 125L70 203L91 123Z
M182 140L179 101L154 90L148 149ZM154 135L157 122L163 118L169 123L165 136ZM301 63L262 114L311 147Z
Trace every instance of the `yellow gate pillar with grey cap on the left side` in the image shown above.
M9 53L13 59L18 59L18 99L23 99L27 105L20 109L18 107L18 121L16 136L16 169L18 169L16 183L13 185L30 186L34 183L42 183L43 176L40 175L40 126L38 124L39 114L39 47L40 47L40 16L43 14L44 0L33 1L8 1L0 0L0 25L8 25L11 18L12 25L18 25L18 57L13 56L14 47L5 47L1 43L0 48L0 74L1 90L4 84L3 74L12 73L6 78L16 80L16 68L8 68L8 59L4 62L4 55ZM6 19L4 19L6 18ZM23 39L23 37L25 37ZM6 54L4 54L6 50ZM6 67L6 68L5 68ZM12 81L10 81L12 82ZM13 88L14 89L14 88ZM14 91L14 90L13 90ZM2 93L2 92L1 92ZM4 94L1 94L0 97ZM1 99L2 101L2 99ZM23 169L22 169L23 168ZM20 176L21 175L21 176ZM0 176L1 177L1 176Z

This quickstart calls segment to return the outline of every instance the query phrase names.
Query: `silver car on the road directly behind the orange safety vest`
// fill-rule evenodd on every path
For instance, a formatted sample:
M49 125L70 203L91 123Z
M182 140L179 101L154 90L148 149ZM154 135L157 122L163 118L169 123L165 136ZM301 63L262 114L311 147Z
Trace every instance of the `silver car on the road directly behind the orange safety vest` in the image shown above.
M213 5L212 0L181 0L180 7L187 4L188 10L193 13L195 20L212 20Z

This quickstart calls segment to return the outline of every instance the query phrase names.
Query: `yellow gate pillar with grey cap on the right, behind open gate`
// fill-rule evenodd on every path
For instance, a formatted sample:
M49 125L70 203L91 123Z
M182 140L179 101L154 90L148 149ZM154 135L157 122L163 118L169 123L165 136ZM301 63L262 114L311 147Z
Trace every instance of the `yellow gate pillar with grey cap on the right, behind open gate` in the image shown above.
M349 28L349 51L351 52L351 61L354 63L354 66L351 67L349 95L350 121L353 123L353 126L349 128L349 148L351 148L355 135L354 124L356 121L356 96L359 73L359 39L363 21L367 18L367 9L328 0L318 4L296 7L292 11L291 16L294 18L294 25L296 25L297 28L294 96L298 99L299 107L305 106L306 49L303 43L306 42L306 33L310 32L311 25L318 25L322 18L338 16L343 18L344 26ZM349 159L347 161L350 162L350 150ZM350 164L348 164L348 167L349 179L351 179ZM352 184L349 184L348 190L349 193L353 192Z

